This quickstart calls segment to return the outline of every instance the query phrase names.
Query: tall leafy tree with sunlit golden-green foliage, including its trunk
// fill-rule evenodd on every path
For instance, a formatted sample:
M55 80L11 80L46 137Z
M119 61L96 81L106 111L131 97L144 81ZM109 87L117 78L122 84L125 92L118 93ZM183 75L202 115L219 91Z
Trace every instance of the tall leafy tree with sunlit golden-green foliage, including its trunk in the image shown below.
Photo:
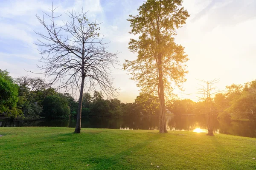
M139 34L138 40L131 39L129 49L137 52L137 59L125 61L127 69L143 93L155 93L160 101L160 133L167 133L165 120L165 95L172 94L172 82L180 87L187 71L188 60L184 48L174 42L176 31L186 23L188 12L182 0L147 0L138 9L139 14L130 15L131 34Z

